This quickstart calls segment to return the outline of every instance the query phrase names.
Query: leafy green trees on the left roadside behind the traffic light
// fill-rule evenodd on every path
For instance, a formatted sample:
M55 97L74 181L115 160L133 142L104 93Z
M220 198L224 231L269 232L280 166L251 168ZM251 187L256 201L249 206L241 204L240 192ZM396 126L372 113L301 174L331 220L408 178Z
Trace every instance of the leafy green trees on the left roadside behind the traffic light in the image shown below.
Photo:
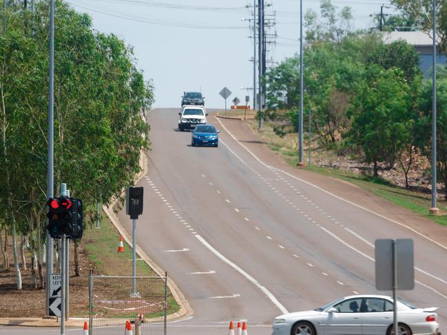
M49 2L35 0L33 15L23 1L8 1L1 12L0 246L8 269L12 239L19 290L26 250L32 284L44 285ZM141 150L149 149L142 114L153 89L135 66L132 47L95 32L87 14L56 0L55 27L54 195L67 183L71 196L83 199L87 228L96 219L96 202L121 197L140 171ZM74 242L77 259L80 241Z

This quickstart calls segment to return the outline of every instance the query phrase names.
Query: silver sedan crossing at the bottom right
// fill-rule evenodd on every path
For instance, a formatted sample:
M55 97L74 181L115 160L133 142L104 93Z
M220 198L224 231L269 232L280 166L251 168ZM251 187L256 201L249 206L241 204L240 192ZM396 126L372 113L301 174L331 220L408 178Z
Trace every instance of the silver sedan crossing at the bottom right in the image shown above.
M397 301L399 335L440 335L437 307L417 308ZM273 335L392 335L393 299L390 296L345 296L315 310L277 316Z

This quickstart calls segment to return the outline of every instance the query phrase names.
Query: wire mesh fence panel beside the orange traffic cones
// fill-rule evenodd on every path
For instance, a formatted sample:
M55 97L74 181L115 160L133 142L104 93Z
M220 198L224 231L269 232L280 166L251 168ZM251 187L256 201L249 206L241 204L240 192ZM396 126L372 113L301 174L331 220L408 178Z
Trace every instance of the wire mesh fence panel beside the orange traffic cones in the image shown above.
M135 279L136 294L132 290ZM165 335L169 305L165 277L90 274L89 335L124 335L126 321L141 335ZM133 334L138 334L134 329Z

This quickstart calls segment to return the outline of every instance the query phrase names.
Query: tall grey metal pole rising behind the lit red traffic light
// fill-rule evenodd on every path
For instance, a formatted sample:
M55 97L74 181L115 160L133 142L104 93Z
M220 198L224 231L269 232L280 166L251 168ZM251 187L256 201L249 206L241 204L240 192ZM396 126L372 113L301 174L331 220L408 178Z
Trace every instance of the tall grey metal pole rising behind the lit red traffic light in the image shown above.
M50 69L48 85L48 175L47 197L54 195L54 0L50 0ZM47 221L48 224L48 221ZM50 308L50 274L53 272L53 239L47 230L47 290L45 296L45 311Z

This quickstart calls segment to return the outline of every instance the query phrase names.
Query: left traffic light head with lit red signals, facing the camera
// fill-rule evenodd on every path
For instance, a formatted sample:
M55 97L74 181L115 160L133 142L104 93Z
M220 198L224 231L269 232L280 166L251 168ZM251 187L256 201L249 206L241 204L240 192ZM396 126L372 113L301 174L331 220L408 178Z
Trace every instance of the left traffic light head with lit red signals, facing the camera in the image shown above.
M60 239L70 233L72 221L72 201L67 197L48 199L48 232L53 239Z

